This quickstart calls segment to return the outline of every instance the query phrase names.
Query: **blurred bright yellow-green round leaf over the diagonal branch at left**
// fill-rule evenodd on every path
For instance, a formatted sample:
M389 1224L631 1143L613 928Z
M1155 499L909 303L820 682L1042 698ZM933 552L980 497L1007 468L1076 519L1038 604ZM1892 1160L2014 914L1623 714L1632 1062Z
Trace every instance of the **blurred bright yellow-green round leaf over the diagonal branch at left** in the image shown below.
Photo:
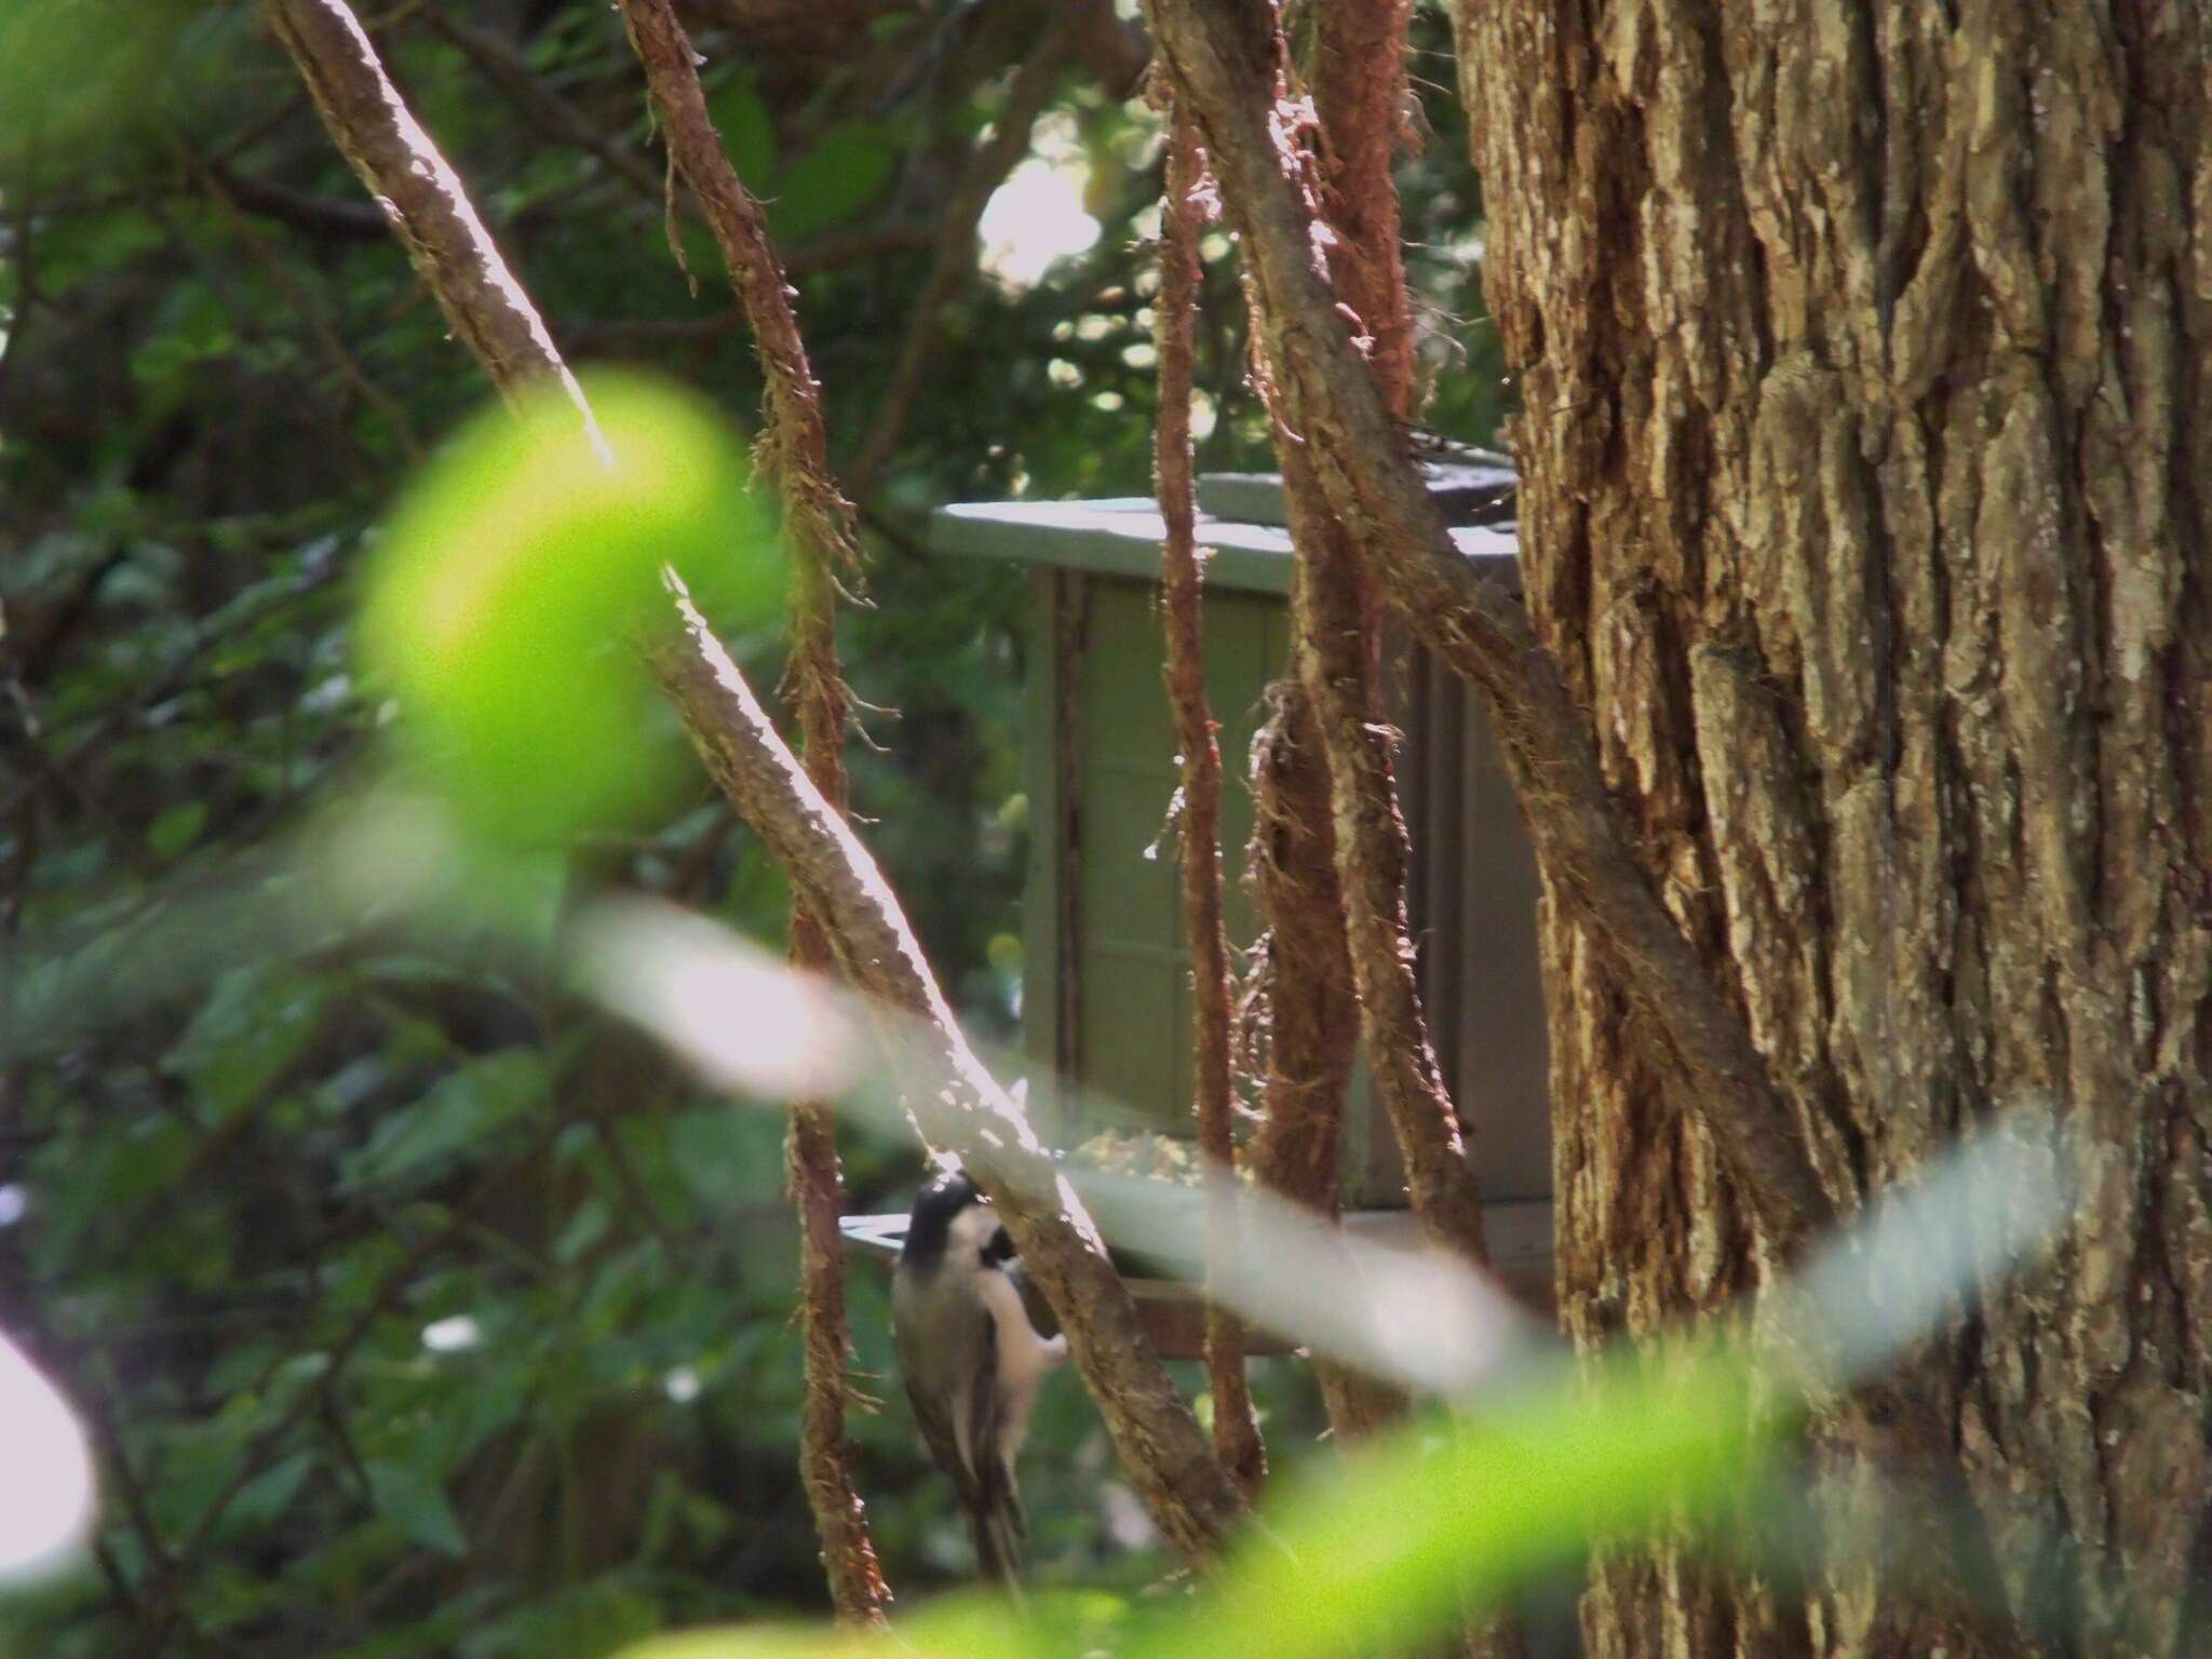
M783 568L708 407L637 376L487 409L411 484L367 573L361 657L462 818L560 843L630 823L684 776L655 732L641 628L670 615L664 571L717 622L770 624ZM664 732L666 737L666 732Z

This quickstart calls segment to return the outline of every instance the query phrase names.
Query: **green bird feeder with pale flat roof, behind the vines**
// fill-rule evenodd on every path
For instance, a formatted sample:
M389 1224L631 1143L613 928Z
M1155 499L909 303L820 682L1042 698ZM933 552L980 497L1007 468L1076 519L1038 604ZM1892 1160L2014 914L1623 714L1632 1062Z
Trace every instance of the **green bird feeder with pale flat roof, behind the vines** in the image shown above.
M1502 460L1438 465L1431 493L1460 551L1517 577L1513 473ZM1290 672L1290 533L1281 478L1199 478L1208 701L1221 726L1230 942L1259 933L1237 878L1252 834L1245 757L1265 690ZM1037 1133L1077 1146L1113 1130L1194 1135L1190 967L1175 834L1175 734L1161 686L1159 553L1150 498L938 509L931 546L1029 571L1022 1035ZM1500 1276L1551 1314L1551 1115L1535 958L1535 858L1480 712L1460 679L1387 641L1391 714L1405 734L1398 790L1411 830L1409 902L1429 1033L1471 1130ZM1345 1124L1347 1225L1411 1241L1389 1124L1363 1077ZM905 1217L852 1217L849 1243L896 1256ZM1197 1290L1130 1279L1161 1352L1199 1352ZM1265 1349L1261 1349L1265 1352Z

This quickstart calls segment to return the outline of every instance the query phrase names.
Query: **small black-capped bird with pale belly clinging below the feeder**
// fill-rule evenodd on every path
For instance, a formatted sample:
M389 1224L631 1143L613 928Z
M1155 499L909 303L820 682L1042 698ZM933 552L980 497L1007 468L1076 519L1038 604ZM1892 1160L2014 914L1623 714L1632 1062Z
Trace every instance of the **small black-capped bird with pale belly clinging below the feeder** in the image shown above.
M1013 1458L1044 1374L1068 1338L1037 1332L1018 1283L1013 1239L964 1172L914 1199L891 1270L891 1343L929 1455L953 1480L987 1579L1013 1584L1022 1495ZM1046 1314L1048 1318L1048 1314Z

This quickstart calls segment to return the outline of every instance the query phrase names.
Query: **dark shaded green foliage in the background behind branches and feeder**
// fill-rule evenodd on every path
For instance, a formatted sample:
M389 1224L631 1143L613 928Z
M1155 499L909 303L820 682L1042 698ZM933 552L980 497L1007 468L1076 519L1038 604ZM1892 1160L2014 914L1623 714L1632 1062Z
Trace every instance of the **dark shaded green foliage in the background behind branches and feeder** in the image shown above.
M1048 13L690 13L717 124L805 272L845 460ZM759 376L712 248L677 223L692 296L664 243L615 15L363 15L571 356L648 365L750 416ZM1148 487L1157 117L1130 95L1141 42L1108 4L1095 22L1040 144L1088 164L1102 234L1029 290L973 274L929 319L933 372L860 502L874 604L843 628L854 688L885 710L867 717L880 748L854 745L867 838L962 1015L995 1037L1018 1026L1022 582L933 560L922 533L945 500ZM1429 422L1484 440L1475 201L1442 20L1422 13L1416 35L1436 128L1405 164ZM122 969L175 945L159 922L250 891L241 854L361 757L378 721L345 626L363 542L484 387L248 4L38 0L0 22L0 49L9 998L69 964L117 969L73 1022L11 1022L0 1051L0 1327L88 1411L108 1475L95 1564L0 1608L0 1648L597 1655L818 1608L776 1115L710 1099L489 951L179 956L159 995L124 995ZM1214 252L1201 378L1221 418L1201 465L1263 465L1232 259ZM774 655L750 641L763 684ZM577 863L580 880L781 933L776 872L703 781L668 823ZM902 1206L909 1152L847 1152L856 1208ZM883 1321L860 1270L856 1378L896 1396ZM1261 1371L1276 1455L1296 1455L1305 1380ZM958 1573L949 1495L902 1407L856 1436L894 1584ZM1048 1391L1026 1484L1042 1577L1161 1575L1073 1385Z

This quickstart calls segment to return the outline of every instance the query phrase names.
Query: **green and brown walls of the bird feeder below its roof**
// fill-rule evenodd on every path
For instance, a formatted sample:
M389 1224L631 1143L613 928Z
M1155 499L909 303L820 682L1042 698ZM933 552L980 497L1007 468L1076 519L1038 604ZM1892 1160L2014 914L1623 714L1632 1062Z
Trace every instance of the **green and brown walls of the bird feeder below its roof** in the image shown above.
M1181 938L1172 721L1155 588L1037 571L1031 655L1031 807L1024 1024L1040 1075L1091 1091L1060 1141L1115 1124L1188 1130L1190 982ZM1208 697L1221 723L1225 902L1234 947L1256 918L1243 889L1252 832L1248 757L1263 692L1285 668L1285 611L1267 593L1208 591ZM1535 867L1480 712L1460 681L1391 641L1407 732L1398 779L1413 838L1411 911L1438 1062L1467 1119L1484 1197L1551 1192L1544 1009L1535 971ZM1152 849L1155 856L1146 858ZM1354 1206L1402 1203L1365 1066L1347 1148Z

